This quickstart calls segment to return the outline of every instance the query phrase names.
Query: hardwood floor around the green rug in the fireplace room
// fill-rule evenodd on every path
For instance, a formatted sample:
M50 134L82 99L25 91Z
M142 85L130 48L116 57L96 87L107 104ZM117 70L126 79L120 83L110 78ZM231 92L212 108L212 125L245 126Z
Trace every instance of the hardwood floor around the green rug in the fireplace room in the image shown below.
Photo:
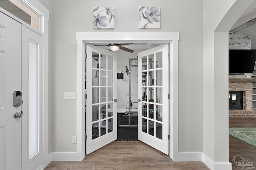
M229 118L229 127L256 127L256 118ZM233 156L236 155L254 162L254 166L256 166L256 148L229 135L229 161L232 163L232 168L236 165L232 161Z

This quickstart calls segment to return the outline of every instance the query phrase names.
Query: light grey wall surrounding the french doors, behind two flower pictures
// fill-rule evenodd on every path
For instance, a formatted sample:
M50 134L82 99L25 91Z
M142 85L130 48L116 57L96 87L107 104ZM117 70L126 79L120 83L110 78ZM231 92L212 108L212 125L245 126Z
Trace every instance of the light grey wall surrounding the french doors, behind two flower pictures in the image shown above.
M92 29L95 6L115 7L114 30ZM138 29L139 6L161 6L161 29ZM76 151L71 143L76 101L63 100L63 93L76 91L76 32L81 31L179 31L179 151L202 152L202 1L52 1L53 152Z

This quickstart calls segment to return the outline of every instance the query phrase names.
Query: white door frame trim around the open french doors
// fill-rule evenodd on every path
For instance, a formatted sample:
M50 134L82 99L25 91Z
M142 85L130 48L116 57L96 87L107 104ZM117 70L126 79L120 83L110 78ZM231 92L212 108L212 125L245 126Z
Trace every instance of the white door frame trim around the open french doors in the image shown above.
M170 158L178 160L178 40L179 32L77 32L76 33L76 160L85 157L85 44L169 43Z

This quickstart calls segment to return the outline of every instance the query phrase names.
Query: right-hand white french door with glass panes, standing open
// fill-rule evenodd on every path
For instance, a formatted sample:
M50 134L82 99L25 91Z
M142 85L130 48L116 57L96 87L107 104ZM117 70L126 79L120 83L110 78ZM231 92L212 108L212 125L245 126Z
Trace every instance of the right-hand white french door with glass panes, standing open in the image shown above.
M169 154L168 44L138 53L138 139Z

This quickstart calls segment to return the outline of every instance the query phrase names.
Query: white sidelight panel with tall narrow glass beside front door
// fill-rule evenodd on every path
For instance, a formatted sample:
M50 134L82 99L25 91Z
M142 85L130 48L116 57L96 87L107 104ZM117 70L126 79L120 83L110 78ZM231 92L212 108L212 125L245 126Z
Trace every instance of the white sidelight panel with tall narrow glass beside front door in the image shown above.
M22 32L22 170L38 170L44 162L43 37L24 25Z

